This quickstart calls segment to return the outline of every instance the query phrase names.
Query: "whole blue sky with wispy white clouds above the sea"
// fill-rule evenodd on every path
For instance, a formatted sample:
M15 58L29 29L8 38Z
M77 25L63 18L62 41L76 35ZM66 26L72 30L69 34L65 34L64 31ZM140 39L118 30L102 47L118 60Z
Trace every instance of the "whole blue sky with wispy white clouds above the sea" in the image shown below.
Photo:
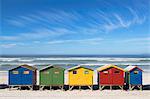
M150 0L0 0L0 54L150 54L149 9Z

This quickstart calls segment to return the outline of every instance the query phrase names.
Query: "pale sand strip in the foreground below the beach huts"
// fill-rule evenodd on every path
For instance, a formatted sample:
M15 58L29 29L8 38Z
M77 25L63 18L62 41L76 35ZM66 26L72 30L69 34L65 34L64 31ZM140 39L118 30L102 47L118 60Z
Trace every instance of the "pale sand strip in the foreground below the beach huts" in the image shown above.
M73 91L28 91L0 90L0 99L149 99L150 91L121 90L73 90Z

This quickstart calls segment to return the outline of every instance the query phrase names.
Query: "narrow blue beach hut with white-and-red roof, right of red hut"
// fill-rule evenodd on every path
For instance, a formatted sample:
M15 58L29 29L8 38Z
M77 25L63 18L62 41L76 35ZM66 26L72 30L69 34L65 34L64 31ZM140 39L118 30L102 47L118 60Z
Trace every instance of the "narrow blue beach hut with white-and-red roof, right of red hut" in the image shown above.
M142 90L142 72L143 70L138 66L128 66L125 69L125 82L130 90L138 87Z

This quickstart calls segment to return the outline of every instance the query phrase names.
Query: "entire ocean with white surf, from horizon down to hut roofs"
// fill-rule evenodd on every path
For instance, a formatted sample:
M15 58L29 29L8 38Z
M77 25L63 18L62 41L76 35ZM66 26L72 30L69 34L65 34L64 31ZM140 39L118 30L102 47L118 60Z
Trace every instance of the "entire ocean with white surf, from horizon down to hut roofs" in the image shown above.
M149 55L4 55L0 56L0 71L9 70L21 64L34 65L43 68L50 64L74 66L78 64L95 64L96 67L105 64L122 66L138 65L145 72L150 72ZM95 68L96 68L95 67Z

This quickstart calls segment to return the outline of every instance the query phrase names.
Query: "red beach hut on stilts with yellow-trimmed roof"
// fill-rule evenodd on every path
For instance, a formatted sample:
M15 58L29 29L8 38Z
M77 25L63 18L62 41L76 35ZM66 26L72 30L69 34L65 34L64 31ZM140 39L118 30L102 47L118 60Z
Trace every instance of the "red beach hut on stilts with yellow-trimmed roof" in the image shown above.
M119 86L123 90L124 86L124 70L113 64L108 64L99 67L98 69L98 83L102 90L105 86Z

